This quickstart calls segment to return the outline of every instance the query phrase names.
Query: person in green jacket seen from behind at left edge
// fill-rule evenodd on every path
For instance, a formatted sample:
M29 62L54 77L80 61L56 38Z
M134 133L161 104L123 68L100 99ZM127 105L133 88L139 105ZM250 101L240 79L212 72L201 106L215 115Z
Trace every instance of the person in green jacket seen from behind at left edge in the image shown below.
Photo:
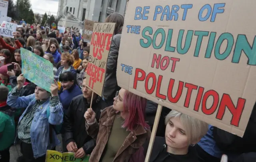
M10 162L10 146L15 139L14 110L7 105L9 89L0 86L0 162Z

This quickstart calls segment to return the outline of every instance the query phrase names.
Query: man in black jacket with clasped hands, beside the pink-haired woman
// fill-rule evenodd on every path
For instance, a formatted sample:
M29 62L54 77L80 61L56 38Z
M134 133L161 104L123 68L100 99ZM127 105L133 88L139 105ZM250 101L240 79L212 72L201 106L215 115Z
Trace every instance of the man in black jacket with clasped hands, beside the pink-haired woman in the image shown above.
M82 84L82 95L76 96L70 103L68 110L64 114L64 138L66 149L69 152L76 152L75 158L82 158L85 154L90 154L95 147L96 141L88 136L85 128L84 113L90 108L92 90L86 87L86 78ZM94 94L92 109L96 113L97 121L101 111L110 106L106 104L100 96ZM65 152L65 148L63 148Z

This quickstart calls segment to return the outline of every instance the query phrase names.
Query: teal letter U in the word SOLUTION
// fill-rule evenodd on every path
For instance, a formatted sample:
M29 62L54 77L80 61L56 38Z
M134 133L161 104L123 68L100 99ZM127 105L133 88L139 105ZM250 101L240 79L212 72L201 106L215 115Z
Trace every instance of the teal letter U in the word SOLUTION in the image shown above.
M177 52L179 54L186 54L188 52L191 45L193 33L194 33L193 30L188 30L188 33L186 35L185 45L184 45L184 48L182 48L182 38L183 38L184 30L180 30L178 41L177 41Z

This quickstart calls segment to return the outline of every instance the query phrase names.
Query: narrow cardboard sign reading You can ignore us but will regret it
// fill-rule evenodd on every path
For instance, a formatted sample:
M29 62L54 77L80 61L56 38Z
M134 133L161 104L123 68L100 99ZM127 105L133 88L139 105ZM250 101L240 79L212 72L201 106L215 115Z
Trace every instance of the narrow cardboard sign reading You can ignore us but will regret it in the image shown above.
M87 65L86 85L102 95L106 63L112 42L115 23L94 23L90 55Z

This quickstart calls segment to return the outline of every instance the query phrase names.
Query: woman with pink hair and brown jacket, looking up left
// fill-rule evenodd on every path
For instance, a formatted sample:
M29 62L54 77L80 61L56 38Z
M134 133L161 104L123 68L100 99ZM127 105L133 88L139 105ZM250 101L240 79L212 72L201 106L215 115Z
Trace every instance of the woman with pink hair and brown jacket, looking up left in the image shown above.
M96 140L89 162L127 162L150 139L145 122L145 98L120 89L112 106L105 108L99 123L89 108L84 114L88 135Z

